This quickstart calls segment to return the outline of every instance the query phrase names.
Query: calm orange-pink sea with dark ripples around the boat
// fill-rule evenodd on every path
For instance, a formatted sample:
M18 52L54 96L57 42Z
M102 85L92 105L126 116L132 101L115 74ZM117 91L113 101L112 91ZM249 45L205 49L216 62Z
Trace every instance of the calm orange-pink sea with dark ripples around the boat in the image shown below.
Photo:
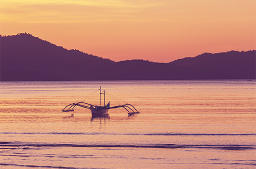
M1 168L256 168L254 80L0 84ZM99 86L140 114L62 112Z

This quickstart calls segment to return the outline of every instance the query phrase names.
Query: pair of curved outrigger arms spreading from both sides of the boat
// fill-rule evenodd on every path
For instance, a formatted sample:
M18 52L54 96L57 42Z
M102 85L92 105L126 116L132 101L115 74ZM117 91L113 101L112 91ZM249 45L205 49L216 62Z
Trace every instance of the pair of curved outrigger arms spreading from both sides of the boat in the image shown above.
M64 112L74 111L75 106L80 106L80 107L88 108L88 109L90 109L91 106L96 107L96 105L91 105L91 104L80 101L78 103L71 103L71 104L67 105L62 111L64 111ZM117 106L109 107L106 109L120 108L120 107L123 107L124 109L126 109L128 111L128 115L139 114L139 111L137 111L136 108L131 104L117 105Z

